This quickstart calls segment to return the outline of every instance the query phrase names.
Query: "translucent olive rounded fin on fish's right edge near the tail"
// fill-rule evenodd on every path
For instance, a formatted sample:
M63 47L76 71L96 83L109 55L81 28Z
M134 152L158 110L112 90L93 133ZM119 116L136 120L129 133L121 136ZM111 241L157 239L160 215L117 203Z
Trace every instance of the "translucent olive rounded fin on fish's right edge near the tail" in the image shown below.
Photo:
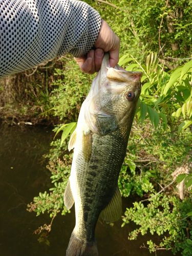
M101 211L100 217L107 223L117 221L121 218L122 201L119 188L116 188L109 204Z

